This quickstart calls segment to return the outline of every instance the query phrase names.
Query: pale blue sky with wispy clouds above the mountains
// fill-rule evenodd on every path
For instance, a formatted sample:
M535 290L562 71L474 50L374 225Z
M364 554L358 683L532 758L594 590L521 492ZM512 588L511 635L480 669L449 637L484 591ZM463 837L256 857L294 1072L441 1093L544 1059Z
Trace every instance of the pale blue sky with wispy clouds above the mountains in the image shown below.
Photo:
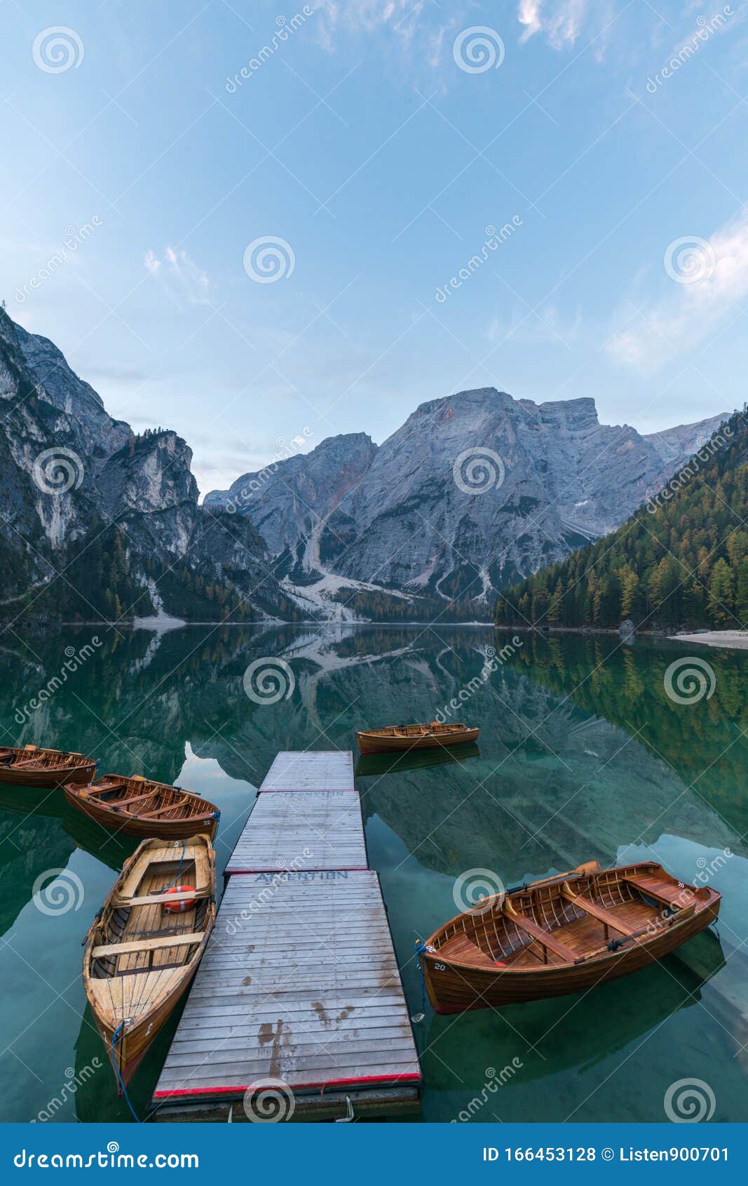
M746 398L744 0L0 2L8 312L203 492L469 387Z

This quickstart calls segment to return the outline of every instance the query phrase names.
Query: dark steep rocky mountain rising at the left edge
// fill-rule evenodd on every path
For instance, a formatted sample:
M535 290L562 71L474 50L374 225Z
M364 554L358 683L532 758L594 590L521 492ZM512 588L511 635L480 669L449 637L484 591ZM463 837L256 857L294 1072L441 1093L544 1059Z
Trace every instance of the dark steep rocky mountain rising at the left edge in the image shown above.
M0 613L294 617L251 522L198 506L191 460L0 310Z

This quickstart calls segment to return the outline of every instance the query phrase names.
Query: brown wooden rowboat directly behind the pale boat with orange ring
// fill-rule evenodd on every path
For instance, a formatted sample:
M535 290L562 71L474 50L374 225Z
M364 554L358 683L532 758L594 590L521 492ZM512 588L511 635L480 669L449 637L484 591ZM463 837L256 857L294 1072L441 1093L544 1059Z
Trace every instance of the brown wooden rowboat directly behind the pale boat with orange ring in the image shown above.
M104 774L84 786L68 783L65 798L104 828L141 840L148 836L181 840L196 831L207 833L212 840L220 818L218 808L207 799L140 774L133 778Z

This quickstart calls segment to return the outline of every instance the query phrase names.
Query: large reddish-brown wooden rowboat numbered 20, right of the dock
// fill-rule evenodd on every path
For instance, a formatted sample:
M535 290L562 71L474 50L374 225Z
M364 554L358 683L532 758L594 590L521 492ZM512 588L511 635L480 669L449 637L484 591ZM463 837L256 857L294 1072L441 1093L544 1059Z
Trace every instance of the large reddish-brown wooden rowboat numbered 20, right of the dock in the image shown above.
M436 1013L563 996L638 971L703 931L721 897L651 862L570 873L494 894L420 946Z

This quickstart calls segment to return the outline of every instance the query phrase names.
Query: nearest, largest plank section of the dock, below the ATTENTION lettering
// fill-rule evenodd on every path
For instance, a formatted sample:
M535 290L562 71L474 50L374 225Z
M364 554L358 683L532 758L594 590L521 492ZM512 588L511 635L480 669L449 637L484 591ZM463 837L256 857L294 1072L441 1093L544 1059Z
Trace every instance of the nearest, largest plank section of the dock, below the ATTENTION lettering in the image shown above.
M261 1078L420 1082L376 873L231 876L154 1102Z

